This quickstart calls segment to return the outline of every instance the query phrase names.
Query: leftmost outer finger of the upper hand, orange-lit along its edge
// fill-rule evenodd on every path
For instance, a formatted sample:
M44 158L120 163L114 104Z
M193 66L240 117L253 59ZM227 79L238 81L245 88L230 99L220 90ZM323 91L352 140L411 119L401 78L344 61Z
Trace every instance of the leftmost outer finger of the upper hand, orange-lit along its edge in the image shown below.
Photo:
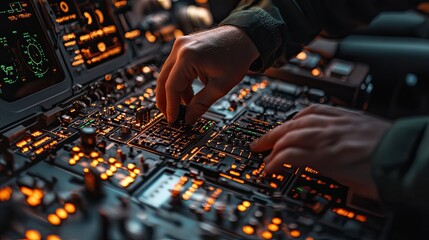
M167 99L165 96L165 82L167 81L168 76L170 75L170 71L174 66L174 57L170 55L168 59L165 61L164 66L161 69L161 72L158 75L157 83L156 83L156 106L158 109L164 113L166 113L166 103Z

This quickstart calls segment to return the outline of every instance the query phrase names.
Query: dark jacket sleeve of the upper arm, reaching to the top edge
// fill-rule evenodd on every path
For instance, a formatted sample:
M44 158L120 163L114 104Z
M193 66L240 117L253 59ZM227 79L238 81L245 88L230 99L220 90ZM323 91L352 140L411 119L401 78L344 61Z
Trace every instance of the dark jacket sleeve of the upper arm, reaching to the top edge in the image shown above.
M220 25L241 28L260 57L250 70L264 71L283 54L297 54L322 30L344 36L380 11L415 7L419 0L242 0Z

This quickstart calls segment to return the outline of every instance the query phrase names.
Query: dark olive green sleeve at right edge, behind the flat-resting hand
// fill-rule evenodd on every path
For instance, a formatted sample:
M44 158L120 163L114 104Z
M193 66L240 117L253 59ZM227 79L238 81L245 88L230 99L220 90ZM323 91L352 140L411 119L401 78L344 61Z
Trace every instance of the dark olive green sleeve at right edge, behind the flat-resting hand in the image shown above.
M429 117L396 122L373 153L373 177L394 209L429 212Z

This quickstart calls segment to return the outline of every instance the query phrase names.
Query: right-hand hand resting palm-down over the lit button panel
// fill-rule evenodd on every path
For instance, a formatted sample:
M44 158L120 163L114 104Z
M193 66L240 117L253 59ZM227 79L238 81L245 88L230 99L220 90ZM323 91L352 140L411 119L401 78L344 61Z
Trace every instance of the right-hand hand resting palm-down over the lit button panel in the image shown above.
M370 156L390 125L362 113L312 105L256 140L251 149L272 149L264 160L267 173L276 173L284 163L309 166L354 193L378 199Z

